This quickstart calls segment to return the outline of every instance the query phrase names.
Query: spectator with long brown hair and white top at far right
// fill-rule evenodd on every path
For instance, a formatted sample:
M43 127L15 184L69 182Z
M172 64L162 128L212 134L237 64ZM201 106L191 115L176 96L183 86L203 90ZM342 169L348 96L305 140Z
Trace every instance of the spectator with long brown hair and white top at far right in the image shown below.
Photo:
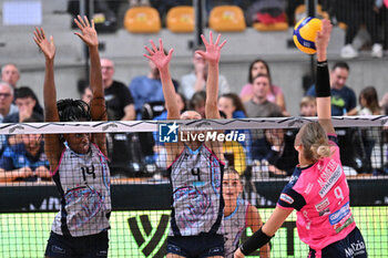
M367 86L358 95L359 115L380 115L377 91L374 86Z

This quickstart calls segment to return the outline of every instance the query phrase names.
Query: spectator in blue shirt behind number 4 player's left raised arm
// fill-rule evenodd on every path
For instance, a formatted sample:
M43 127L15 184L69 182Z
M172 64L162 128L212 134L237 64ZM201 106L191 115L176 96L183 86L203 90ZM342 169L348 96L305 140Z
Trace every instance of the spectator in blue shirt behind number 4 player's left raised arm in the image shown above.
M164 51L165 52L165 51ZM149 61L150 71L147 75L136 76L130 83L130 91L133 96L136 120L142 118L142 107L150 102L164 102L161 76L157 68L153 62ZM173 80L175 91L178 89L178 83Z

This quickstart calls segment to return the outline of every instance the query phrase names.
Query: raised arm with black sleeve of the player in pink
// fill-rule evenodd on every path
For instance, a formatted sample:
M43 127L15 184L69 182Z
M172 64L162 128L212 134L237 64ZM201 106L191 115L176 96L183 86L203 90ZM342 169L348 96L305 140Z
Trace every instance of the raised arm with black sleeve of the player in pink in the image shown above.
M324 19L321 31L318 31L315 45L317 49L317 113L319 124L327 133L335 133L331 123L331 103L330 103L330 80L327 65L327 47L330 40L333 25L329 20Z

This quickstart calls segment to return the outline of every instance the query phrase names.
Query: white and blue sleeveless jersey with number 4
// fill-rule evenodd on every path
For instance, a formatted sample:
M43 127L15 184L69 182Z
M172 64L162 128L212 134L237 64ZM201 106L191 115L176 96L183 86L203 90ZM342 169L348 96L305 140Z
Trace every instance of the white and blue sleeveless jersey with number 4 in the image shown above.
M185 146L169 167L173 188L170 236L223 235L224 164L204 144Z

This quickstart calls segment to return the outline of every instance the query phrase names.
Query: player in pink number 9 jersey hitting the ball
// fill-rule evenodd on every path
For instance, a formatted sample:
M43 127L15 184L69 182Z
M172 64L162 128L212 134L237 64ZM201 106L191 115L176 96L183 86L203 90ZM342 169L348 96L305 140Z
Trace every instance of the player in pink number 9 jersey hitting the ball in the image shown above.
M318 123L308 123L299 130L294 144L299 164L284 187L273 215L235 251L235 258L242 258L269 241L294 209L297 210L299 238L310 247L308 257L367 257L364 238L349 207L349 188L330 118L326 61L330 32L330 22L323 20L323 30L318 32L315 43Z

